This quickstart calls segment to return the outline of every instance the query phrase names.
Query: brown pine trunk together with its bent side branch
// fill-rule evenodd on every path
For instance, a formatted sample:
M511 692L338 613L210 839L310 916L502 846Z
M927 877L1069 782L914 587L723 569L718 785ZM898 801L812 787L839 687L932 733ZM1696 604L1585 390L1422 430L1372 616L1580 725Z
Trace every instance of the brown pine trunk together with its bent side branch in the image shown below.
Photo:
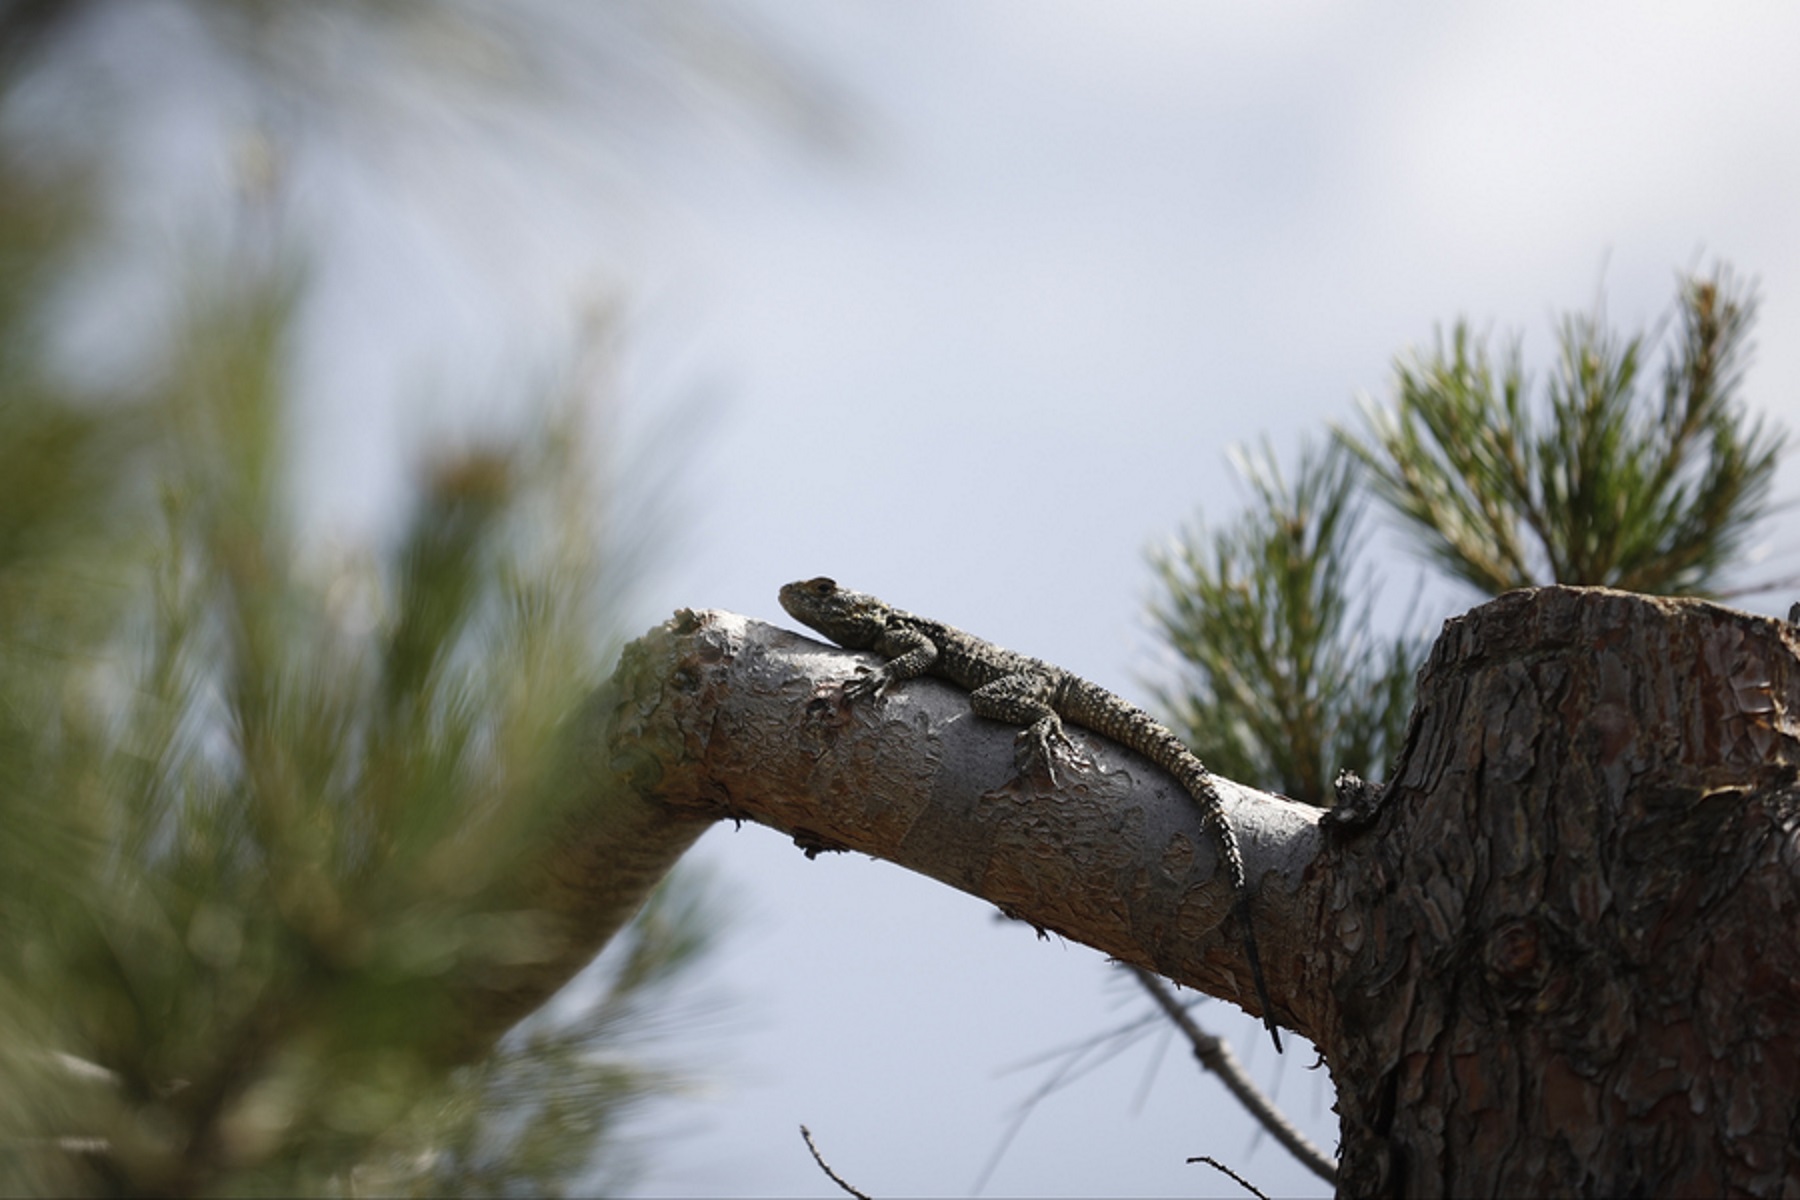
M1220 781L1276 1018L1337 1083L1341 1195L1800 1195L1795 640L1696 601L1514 592L1447 622L1366 808L1321 822ZM713 612L641 639L585 718L585 786L610 799L538 894L607 928L506 1009L729 817L1255 1011L1179 784L1082 730L1091 766L1019 777L1015 730L954 687L846 705L859 658Z

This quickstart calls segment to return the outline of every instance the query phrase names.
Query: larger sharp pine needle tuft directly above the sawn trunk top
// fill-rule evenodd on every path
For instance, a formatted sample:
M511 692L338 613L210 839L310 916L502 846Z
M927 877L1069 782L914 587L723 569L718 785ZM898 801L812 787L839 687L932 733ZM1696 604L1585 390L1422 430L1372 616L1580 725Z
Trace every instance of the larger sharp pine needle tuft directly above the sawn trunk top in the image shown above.
M1753 322L1726 270L1681 281L1667 338L1564 317L1541 399L1517 338L1494 354L1458 324L1397 362L1393 405L1366 407L1366 439L1345 443L1420 549L1480 592L1715 594L1784 446L1739 401Z

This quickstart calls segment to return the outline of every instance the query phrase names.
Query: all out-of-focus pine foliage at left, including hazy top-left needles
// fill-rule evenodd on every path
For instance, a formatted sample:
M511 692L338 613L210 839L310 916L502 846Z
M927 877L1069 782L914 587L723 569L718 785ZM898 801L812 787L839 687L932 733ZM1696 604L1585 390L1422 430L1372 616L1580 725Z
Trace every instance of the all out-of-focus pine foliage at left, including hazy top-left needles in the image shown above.
M229 169L171 266L139 189L187 86ZM590 214L697 131L841 155L844 92L709 0L0 0L0 1193L623 1186L621 1121L682 1081L653 1052L697 1018L706 889L497 1047L517 1013L470 995L571 957L515 874L653 533L571 389L421 462L391 542L302 543L319 284L275 248L328 250L320 196L367 189L490 250L491 209L427 201L446 178ZM146 275L86 390L43 367L47 311Z

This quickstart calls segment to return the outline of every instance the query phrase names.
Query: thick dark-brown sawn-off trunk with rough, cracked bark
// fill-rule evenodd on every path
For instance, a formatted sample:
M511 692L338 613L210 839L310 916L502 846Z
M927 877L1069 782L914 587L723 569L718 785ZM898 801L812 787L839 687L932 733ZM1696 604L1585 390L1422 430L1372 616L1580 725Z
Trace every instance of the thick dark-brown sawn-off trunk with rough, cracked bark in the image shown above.
M1332 840L1341 1195L1800 1195L1795 628L1514 592Z

